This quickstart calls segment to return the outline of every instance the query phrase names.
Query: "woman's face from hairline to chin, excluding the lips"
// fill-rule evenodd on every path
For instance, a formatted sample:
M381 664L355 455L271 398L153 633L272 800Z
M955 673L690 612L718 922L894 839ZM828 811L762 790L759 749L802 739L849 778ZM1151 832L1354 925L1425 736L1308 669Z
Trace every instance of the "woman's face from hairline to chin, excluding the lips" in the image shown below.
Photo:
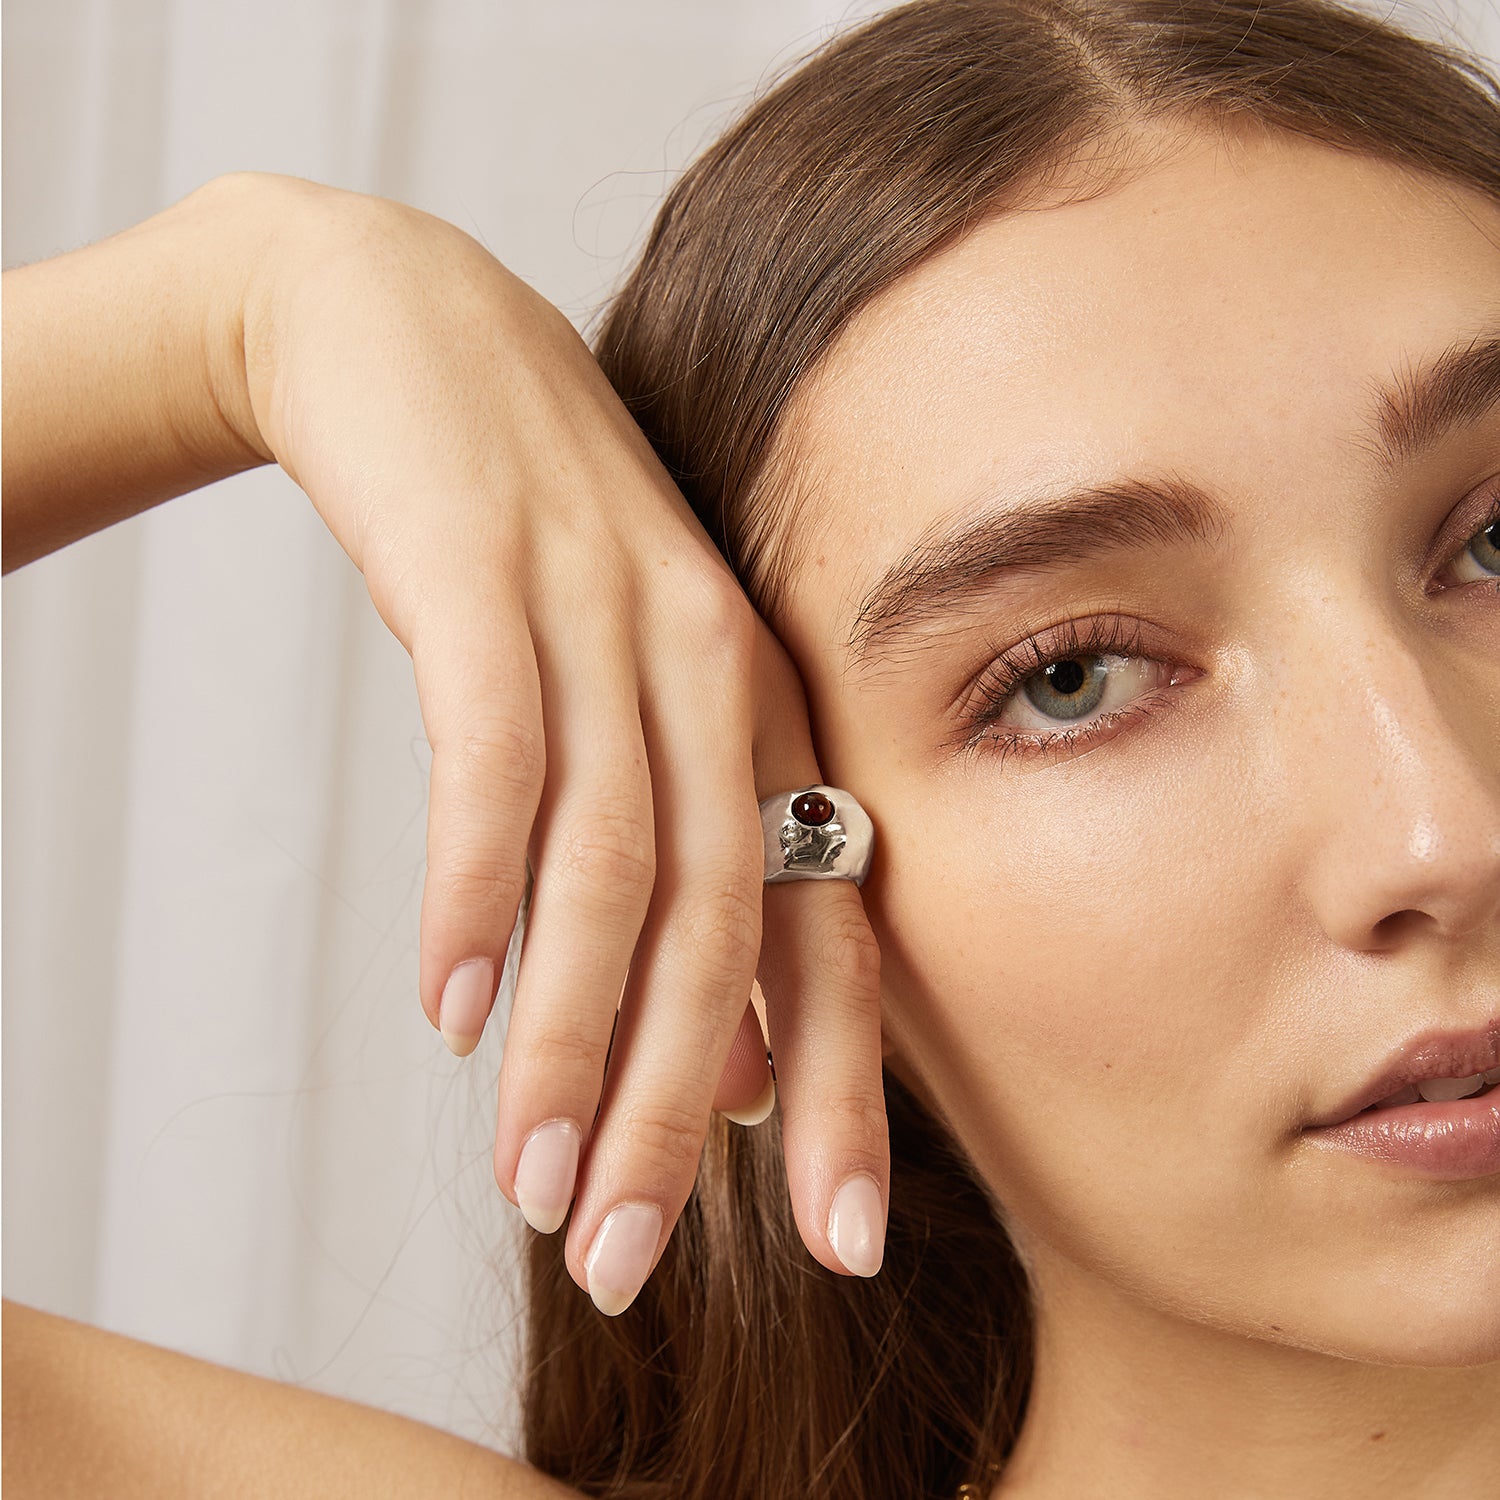
M1410 1038L1500 1026L1500 207L1155 141L882 296L784 428L776 626L876 820L891 1065L1044 1308L1497 1359L1500 1174L1304 1126ZM1018 525L1083 486L1116 494Z

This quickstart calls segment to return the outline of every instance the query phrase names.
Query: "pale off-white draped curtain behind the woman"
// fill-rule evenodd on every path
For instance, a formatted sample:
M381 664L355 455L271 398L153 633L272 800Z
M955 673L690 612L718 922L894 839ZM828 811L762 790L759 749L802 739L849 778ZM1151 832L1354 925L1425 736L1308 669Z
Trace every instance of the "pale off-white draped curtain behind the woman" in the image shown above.
M260 168L582 324L696 146L879 8L6 0L4 264ZM1398 14L1500 57L1492 0ZM256 471L14 574L3 632L4 1294L512 1446L500 1036L460 1064L417 1004L428 748L358 573Z

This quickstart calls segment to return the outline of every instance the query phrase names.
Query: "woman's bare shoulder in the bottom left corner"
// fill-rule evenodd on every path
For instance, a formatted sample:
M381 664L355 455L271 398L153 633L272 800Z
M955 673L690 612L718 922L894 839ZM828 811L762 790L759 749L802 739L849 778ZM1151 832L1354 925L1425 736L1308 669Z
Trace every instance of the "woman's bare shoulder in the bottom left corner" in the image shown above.
M452 1432L4 1304L4 1488L296 1500L578 1500Z

